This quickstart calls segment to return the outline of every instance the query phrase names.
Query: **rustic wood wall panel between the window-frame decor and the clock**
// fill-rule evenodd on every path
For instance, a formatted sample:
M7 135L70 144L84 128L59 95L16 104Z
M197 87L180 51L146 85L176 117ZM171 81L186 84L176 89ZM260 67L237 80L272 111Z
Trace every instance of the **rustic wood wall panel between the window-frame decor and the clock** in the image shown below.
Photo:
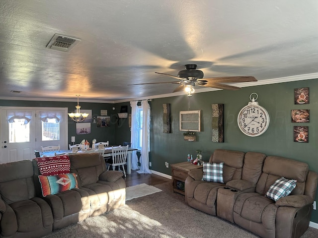
M212 104L213 142L224 142L223 107L224 104Z

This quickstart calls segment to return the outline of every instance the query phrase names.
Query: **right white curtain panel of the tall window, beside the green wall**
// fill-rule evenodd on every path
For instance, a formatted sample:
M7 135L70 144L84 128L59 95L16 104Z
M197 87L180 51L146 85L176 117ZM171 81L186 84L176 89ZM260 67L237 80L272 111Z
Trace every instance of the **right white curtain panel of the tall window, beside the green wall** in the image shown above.
M137 171L139 174L151 174L149 169L149 151L150 151L150 106L148 100L141 102L143 109L143 132L142 132L142 148L140 156L140 170Z

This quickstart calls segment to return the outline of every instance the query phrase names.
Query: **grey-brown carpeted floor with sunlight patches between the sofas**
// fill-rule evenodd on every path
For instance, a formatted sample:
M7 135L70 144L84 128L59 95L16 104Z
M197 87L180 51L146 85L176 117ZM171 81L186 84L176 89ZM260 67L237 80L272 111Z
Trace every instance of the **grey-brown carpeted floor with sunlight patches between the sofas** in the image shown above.
M156 185L161 192L135 198L124 207L54 231L46 238L257 238L238 226L187 206L171 192L171 182ZM309 228L301 238L317 238Z

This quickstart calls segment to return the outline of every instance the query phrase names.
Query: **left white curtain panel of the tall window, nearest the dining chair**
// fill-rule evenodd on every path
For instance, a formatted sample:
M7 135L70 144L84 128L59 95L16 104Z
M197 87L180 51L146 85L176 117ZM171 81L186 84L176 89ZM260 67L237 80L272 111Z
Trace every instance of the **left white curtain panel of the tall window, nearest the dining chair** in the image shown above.
M138 145L138 116L137 116L137 102L130 102L131 106L131 133L130 133L130 142L132 148L137 148ZM138 170L138 157L136 150L133 151L131 157L131 169Z

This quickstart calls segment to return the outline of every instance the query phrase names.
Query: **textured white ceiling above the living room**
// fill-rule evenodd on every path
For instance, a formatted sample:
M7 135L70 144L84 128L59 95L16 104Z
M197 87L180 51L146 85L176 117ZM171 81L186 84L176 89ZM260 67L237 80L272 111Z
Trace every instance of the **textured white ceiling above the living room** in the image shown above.
M1 0L0 19L2 99L151 98L176 86L127 84L175 81L155 71L186 63L255 84L318 75L317 0ZM81 41L46 49L55 33Z

